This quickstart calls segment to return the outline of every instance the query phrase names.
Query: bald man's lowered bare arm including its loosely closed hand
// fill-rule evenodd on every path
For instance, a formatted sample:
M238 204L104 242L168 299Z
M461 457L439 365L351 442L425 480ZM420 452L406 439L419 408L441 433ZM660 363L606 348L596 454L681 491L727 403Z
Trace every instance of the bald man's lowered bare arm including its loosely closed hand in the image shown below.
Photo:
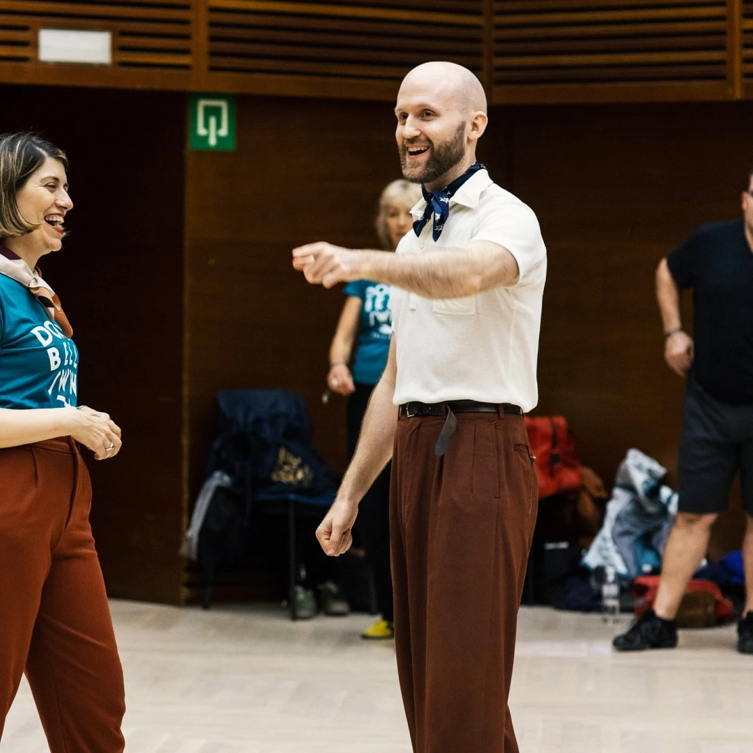
M332 507L316 529L319 544L331 556L338 556L349 549L358 504L392 457L398 417L398 409L392 404L397 371L393 335L387 366L371 393L355 454Z

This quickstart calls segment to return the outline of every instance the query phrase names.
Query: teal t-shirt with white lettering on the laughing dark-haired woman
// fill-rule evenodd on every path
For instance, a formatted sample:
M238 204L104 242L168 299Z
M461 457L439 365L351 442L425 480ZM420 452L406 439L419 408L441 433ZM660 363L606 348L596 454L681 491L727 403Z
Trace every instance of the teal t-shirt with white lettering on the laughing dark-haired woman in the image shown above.
M0 408L75 407L78 348L29 289L0 274Z

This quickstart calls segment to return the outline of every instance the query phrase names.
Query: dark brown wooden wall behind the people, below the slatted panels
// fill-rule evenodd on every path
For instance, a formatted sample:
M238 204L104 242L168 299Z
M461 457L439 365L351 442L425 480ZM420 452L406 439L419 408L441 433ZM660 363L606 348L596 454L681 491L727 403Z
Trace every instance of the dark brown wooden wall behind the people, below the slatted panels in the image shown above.
M2 96L2 130L42 130L72 157L74 232L44 272L81 346L81 400L123 426L121 456L90 463L108 588L177 602L218 389L301 392L322 454L345 465L344 401L320 399L342 291L306 285L290 250L375 242L398 176L391 105L239 97L238 149L222 154L185 151L181 95ZM682 384L663 364L654 267L701 222L739 216L751 121L747 102L492 110L480 157L535 208L550 254L538 410L569 417L608 485L629 447L675 481ZM712 553L740 524L739 510L720 523Z

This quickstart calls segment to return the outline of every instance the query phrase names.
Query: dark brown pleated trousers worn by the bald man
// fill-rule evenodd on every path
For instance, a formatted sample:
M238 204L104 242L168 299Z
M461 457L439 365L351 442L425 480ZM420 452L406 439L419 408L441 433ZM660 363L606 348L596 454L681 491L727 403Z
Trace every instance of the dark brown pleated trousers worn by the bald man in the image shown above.
M538 510L523 416L401 416L390 529L395 648L413 751L517 753L508 708Z

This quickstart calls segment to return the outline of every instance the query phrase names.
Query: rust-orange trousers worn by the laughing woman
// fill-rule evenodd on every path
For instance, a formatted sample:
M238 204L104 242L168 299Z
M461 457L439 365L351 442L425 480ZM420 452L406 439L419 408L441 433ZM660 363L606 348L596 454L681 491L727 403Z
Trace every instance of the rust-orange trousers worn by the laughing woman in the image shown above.
M52 753L120 753L123 670L68 438L0 449L0 736L21 675Z

